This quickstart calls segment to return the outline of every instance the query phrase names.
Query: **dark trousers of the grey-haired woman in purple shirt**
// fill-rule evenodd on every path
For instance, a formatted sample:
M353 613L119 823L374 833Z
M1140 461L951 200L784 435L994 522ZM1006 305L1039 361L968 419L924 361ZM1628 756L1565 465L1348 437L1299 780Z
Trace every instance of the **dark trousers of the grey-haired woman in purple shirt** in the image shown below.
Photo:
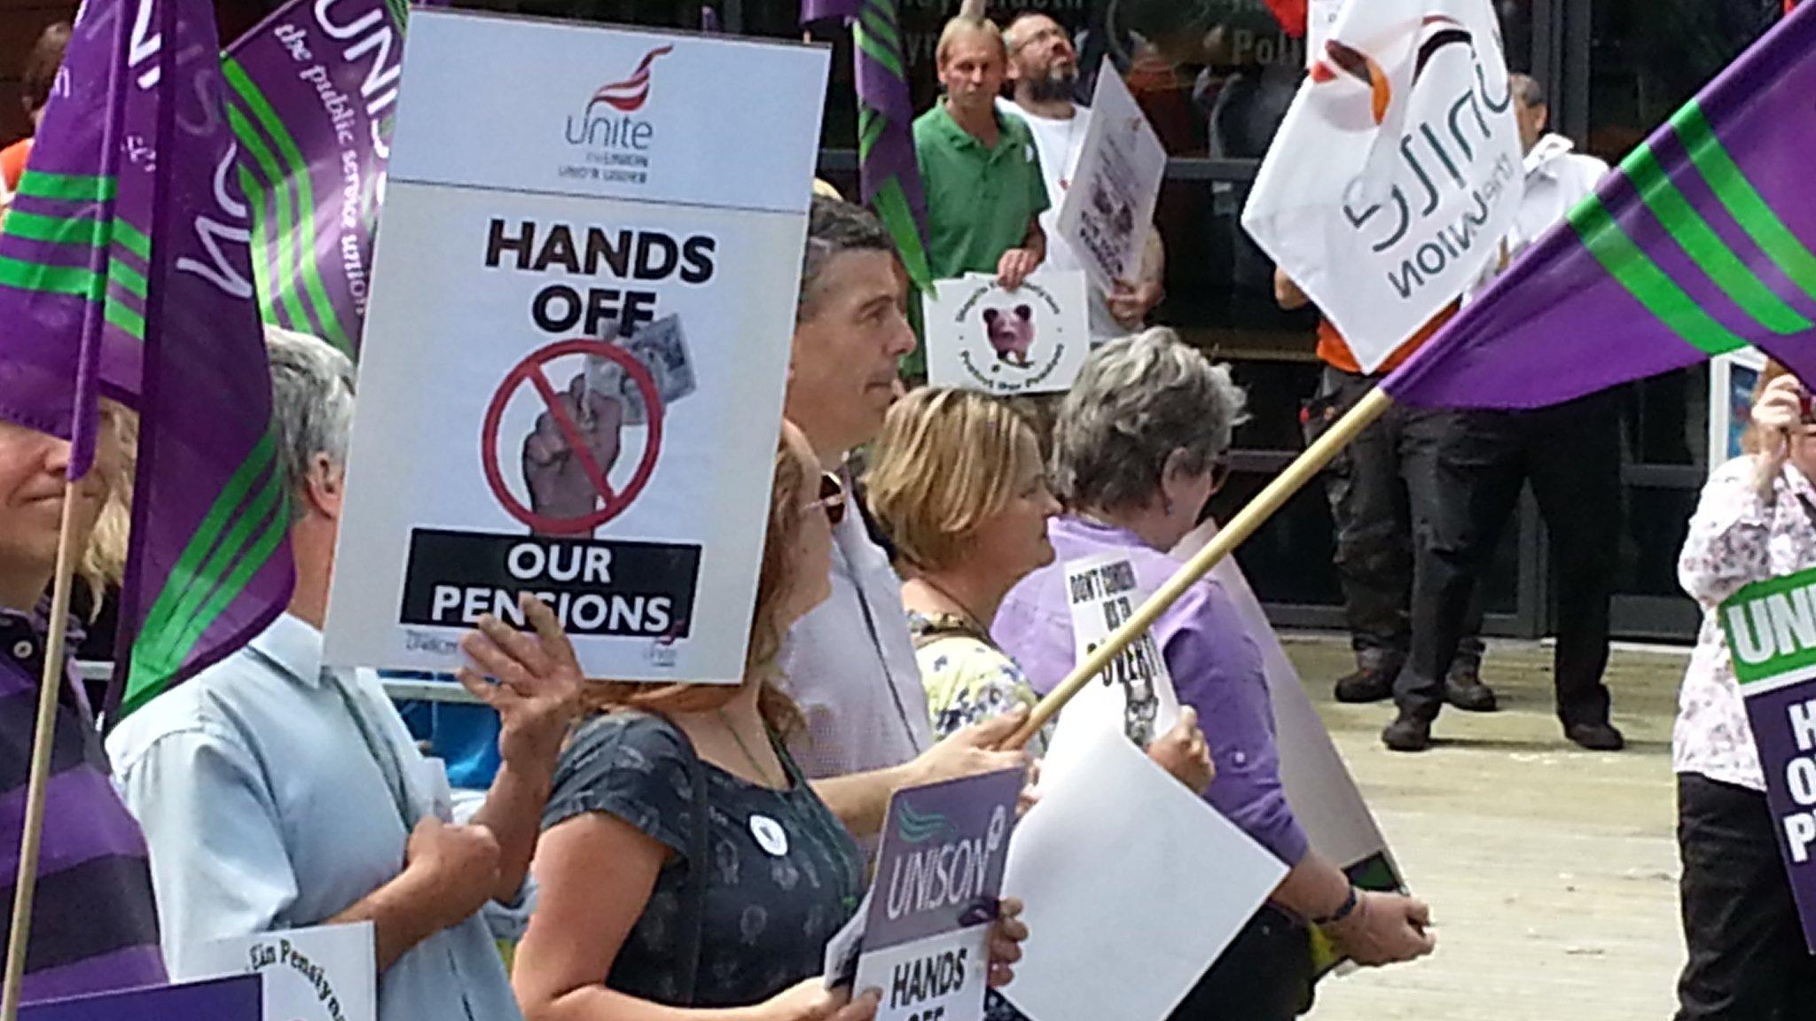
M1311 1010L1311 932L1262 905L1168 1021L1291 1021Z

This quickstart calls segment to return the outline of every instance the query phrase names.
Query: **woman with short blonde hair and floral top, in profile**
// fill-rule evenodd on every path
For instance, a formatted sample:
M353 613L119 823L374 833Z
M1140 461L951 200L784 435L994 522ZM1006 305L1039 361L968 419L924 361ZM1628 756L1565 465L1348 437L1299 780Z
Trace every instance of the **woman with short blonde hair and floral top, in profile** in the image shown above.
M1010 589L1053 563L1046 530L1061 505L1033 425L988 394L917 389L890 409L864 487L906 569L903 605L933 730L952 734L1033 707L1033 685L990 636ZM1041 754L1044 738L1030 750ZM1189 709L1150 754L1193 790L1211 781Z

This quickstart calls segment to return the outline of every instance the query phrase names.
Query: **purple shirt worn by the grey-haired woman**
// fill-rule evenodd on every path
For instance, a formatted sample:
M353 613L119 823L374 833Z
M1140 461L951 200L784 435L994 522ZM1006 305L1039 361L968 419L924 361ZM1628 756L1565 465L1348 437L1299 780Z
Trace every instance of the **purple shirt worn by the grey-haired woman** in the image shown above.
M1133 532L1081 518L1053 518L1046 529L1057 560L1010 590L992 634L1021 663L1035 690L1046 694L1077 663L1066 561L1100 552L1128 554L1144 594L1159 589L1180 561L1142 545ZM1306 856L1306 832L1280 787L1280 752L1273 745L1273 703L1260 649L1229 598L1213 580L1186 590L1153 625L1155 641L1173 674L1179 701L1199 710L1217 779L1204 799L1286 865Z

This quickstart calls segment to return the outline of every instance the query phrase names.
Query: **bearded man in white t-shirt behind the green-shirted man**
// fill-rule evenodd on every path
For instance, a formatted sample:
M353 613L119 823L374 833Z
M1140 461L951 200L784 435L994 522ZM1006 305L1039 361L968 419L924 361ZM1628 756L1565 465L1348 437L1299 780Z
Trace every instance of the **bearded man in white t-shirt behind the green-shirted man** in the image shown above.
M1033 133L1046 174L1048 209L1041 214L1046 233L1046 265L1081 269L1079 256L1061 240L1059 205L1079 167L1079 153L1091 127L1091 111L1071 100L1079 84L1079 55L1059 22L1046 15L1021 15L1002 33L1010 51L1010 82L1015 102L997 100L999 109L1021 114ZM1113 73L1113 71L1111 71ZM1148 247L1137 280L1119 283L1104 294L1091 289L1091 343L1135 332L1148 312L1160 303L1164 254L1160 233L1148 233Z

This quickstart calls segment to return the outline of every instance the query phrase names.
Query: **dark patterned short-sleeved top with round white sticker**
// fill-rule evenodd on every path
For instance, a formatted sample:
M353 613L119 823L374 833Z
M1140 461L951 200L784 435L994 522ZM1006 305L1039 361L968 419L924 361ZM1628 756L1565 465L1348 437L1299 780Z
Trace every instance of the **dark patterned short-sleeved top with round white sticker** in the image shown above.
M826 941L863 896L864 861L852 834L806 785L788 754L788 790L699 763L706 783L706 859L696 843L694 748L670 721L610 714L587 723L561 754L543 812L548 830L588 812L623 819L674 854L632 927L607 986L686 1005L681 956L692 941L688 872L706 868L692 1006L750 1005L821 974Z

